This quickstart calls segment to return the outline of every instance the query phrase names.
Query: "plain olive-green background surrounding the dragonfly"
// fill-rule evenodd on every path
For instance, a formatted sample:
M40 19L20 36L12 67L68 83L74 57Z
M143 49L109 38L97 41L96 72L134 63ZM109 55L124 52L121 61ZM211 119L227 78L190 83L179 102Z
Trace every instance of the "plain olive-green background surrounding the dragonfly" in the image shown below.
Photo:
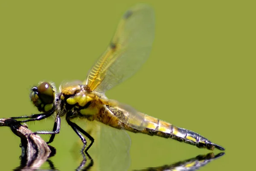
M226 148L224 157L202 170L252 168L256 15L250 1L2 0L0 118L37 113L29 90L39 81L54 81L58 87L63 80L84 80L122 14L140 2L150 4L156 13L151 56L136 75L110 90L108 98ZM81 144L62 120L61 133L51 144L57 148L52 161L61 171L74 170L81 160ZM51 118L31 123L29 128L50 130L52 122ZM129 170L210 152L170 139L129 135ZM19 165L19 143L9 128L0 128L1 170Z

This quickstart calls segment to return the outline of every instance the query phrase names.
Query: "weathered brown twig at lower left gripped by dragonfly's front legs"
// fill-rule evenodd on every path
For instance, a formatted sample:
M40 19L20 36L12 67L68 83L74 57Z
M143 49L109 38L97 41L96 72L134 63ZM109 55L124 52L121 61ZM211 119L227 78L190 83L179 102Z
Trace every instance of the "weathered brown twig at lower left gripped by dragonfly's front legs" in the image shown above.
M55 154L55 148L48 146L40 136L35 135L26 126L15 119L0 119L0 126L10 127L21 140L21 163L15 170L34 171L38 169L50 156Z

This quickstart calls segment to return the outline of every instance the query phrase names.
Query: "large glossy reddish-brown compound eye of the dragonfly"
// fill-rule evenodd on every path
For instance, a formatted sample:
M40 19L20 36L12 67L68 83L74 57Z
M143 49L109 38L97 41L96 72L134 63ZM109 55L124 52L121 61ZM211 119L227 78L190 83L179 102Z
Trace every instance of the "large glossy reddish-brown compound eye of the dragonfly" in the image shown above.
M48 82L43 82L38 85L38 96L44 104L51 104L54 101L54 90Z

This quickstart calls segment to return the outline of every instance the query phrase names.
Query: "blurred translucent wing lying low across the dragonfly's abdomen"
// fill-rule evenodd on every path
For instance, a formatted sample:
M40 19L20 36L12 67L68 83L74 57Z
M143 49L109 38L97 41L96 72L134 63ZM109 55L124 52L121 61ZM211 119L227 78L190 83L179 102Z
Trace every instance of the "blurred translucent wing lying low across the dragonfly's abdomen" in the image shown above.
M109 110L120 120L120 122L130 126L131 128L143 130L146 128L146 124L148 124L145 122L145 117L147 115L138 112L127 104L122 104L115 100L107 100L106 110Z

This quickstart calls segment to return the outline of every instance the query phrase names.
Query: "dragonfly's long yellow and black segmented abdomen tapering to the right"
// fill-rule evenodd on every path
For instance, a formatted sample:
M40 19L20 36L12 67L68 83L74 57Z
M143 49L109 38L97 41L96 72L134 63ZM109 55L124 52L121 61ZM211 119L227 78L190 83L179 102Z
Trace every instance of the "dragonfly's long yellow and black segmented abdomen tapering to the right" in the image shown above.
M105 115L102 115L103 117L98 120L100 122L105 120L102 123L114 128L125 129L134 133L145 133L151 136L156 135L164 138L172 138L180 142L195 145L198 148L207 148L209 150L217 148L224 150L221 146L212 143L209 139L198 133L184 128L178 128L168 122L138 112L127 105L115 104L113 102L111 105L106 105L103 110L104 112L100 113L105 113Z

